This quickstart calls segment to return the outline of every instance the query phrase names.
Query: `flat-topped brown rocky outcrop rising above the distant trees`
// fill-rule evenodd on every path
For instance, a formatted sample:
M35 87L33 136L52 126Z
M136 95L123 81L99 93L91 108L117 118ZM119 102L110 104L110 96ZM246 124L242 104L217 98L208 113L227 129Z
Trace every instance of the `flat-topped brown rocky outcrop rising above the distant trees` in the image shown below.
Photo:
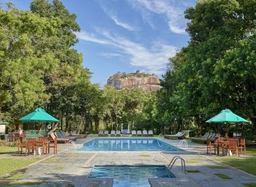
M112 77L108 78L107 84L115 87L117 90L138 87L145 92L152 92L160 89L160 80L157 75L140 73L138 70L136 73L118 72Z

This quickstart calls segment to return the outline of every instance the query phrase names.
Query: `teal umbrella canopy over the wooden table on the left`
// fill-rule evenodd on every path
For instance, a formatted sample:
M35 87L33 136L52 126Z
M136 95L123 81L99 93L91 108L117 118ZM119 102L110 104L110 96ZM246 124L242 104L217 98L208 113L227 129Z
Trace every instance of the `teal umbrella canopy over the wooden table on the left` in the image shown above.
M34 112L20 118L20 121L26 122L59 122L56 118L49 115L45 110L37 108Z

